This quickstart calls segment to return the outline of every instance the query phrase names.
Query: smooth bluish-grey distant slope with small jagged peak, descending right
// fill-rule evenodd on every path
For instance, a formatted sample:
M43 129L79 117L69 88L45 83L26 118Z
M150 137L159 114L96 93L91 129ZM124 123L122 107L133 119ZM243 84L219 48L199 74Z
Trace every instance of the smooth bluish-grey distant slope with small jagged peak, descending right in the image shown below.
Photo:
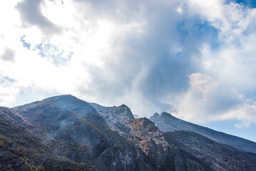
M158 128L163 132L174 130L193 131L195 133L208 137L211 140L215 140L216 142L224 143L239 150L245 150L247 152L253 152L256 154L256 142L245 140L243 138L239 138L233 135L228 135L226 133L221 133L200 125L195 125L193 123L186 122L185 120L175 118L169 113L164 112L161 115L155 113L149 119L152 120L153 123L155 123L155 125L157 125Z

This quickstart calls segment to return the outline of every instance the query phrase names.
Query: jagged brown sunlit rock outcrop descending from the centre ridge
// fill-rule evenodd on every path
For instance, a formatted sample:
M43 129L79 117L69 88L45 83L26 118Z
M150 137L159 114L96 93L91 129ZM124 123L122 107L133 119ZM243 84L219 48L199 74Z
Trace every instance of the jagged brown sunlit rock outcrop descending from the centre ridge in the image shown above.
M152 170L188 170L190 167L211 170L205 162L197 160L193 155L181 155L180 149L169 143L147 118L132 120L129 127L130 138L147 155Z

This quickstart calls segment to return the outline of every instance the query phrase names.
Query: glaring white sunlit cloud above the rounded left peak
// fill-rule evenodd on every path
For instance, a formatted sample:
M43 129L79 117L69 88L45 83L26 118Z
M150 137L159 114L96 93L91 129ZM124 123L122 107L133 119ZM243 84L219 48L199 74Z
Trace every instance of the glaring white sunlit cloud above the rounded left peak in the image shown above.
M107 19L86 19L83 9L78 9L77 4L71 1L65 4L61 4L61 1L56 1L55 4L51 1L37 1L32 4L29 1L19 1L1 6L4 5L5 8L1 11L4 25L1 27L0 41L5 46L1 46L1 59L8 61L12 53L16 54L16 60L14 63L2 61L0 74L13 78L16 83L2 85L5 93L0 96L3 99L1 105L14 104L19 92L28 88L78 95L77 86L83 83L83 88L92 90L88 87L91 82L88 68L103 67L103 61L107 61L103 57L115 48L113 43L116 42L111 42L113 38L125 37L134 28L133 33L141 31L141 24L136 21L118 25ZM30 11L34 7L38 10L36 14L33 14L33 10ZM6 14L10 17L3 17ZM38 20L31 18L33 15L37 15L34 17ZM54 24L60 31L48 36L43 24ZM21 38L30 45L30 49L23 47ZM56 58L68 59L68 56L71 56L70 60L61 66L55 63ZM13 58L14 56L10 56L9 59L13 61ZM8 95L13 100L4 100Z

